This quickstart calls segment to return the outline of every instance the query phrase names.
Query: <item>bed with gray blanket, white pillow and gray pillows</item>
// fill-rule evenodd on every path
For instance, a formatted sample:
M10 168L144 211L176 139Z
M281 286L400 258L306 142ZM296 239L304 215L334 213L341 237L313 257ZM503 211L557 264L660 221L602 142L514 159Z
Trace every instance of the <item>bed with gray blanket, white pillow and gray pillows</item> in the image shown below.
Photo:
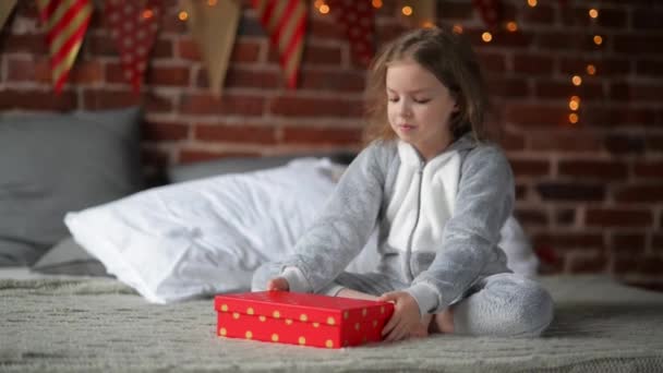
M663 293L606 276L541 278L556 317L537 339L324 350L219 338L210 297L245 290L292 245L353 154L183 165L147 189L140 121L132 108L0 116L0 371L663 371ZM526 252L507 255L531 274Z

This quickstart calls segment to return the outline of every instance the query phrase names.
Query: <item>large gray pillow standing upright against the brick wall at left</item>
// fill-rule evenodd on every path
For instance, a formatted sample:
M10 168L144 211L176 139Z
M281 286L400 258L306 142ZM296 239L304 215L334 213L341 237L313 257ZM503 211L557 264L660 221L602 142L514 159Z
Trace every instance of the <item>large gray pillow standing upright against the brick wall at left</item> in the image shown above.
M141 190L141 110L0 116L0 266L68 236L64 214Z

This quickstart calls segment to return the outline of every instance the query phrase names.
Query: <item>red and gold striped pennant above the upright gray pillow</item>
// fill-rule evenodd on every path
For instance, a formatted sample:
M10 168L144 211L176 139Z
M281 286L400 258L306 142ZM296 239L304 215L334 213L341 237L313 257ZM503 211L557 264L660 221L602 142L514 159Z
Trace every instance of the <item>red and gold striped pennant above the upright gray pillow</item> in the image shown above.
M76 60L93 11L91 0L37 0L46 28L56 93L62 91Z

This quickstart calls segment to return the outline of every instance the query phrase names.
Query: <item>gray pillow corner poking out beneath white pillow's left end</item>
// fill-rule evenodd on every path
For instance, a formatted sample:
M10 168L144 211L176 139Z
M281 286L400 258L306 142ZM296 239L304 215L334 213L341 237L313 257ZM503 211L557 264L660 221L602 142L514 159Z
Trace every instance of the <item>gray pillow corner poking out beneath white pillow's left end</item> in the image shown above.
M110 276L104 264L71 236L51 248L31 269L48 275Z

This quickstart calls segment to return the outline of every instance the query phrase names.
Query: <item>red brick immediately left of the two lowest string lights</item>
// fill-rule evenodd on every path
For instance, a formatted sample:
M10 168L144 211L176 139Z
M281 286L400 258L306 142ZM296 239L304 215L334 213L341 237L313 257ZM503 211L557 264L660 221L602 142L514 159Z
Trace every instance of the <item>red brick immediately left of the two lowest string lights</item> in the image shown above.
M513 103L505 106L504 119L523 128L555 128L567 123L567 109L560 105Z

